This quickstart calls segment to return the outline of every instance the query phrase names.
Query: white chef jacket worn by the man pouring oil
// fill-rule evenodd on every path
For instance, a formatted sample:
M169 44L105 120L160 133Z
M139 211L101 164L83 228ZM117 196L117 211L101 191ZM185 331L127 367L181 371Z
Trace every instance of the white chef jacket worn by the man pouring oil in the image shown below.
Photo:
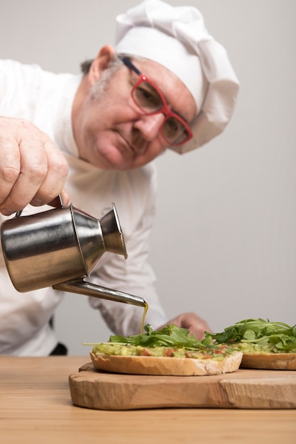
M66 189L73 206L99 219L115 203L128 259L105 252L89 280L143 297L149 306L146 323L156 328L167 318L155 292L155 275L148 264L148 241L155 214L155 165L151 162L127 172L104 171L78 158L71 109L81 79L81 74L53 74L38 65L0 60L0 116L26 118L50 135L69 163ZM38 211L43 208L28 206L23 214ZM4 219L0 215L0 221ZM48 321L65 294L51 287L17 292L2 254L0 282L0 354L49 355L57 345L57 338ZM129 335L141 330L141 307L94 297L89 297L89 303L101 311L114 333Z

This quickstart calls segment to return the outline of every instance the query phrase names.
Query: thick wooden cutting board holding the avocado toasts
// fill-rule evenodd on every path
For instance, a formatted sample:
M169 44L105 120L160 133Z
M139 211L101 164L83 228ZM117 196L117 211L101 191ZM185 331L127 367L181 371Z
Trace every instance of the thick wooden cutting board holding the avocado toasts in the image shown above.
M212 376L143 376L95 370L69 376L72 402L100 410L296 409L296 371L244 370Z

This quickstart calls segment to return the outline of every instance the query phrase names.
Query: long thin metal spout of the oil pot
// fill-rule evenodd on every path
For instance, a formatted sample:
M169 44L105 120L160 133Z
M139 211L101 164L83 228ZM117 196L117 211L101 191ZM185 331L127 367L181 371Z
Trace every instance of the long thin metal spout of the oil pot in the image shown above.
M100 285L92 284L92 282L84 281L84 279L56 284L53 285L53 289L62 292L84 294L85 296L94 296L101 299L109 299L110 301L123 302L124 304L132 304L141 307L147 306L146 301L141 297L101 287Z

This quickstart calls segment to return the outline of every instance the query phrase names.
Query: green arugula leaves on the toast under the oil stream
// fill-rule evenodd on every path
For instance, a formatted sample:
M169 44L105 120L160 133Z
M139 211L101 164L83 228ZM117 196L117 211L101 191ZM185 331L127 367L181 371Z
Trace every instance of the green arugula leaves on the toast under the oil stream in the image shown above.
M146 333L131 336L111 335L111 343L141 345L142 347L172 347L172 348L204 348L187 328L168 324L160 330L153 330L150 324L144 326Z

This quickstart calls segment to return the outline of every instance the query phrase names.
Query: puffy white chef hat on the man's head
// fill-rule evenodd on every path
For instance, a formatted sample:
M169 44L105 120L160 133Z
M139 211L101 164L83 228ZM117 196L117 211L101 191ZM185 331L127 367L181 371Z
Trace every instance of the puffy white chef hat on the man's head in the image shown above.
M194 6L143 0L116 17L116 52L153 60L173 72L191 92L197 116L193 138L171 146L180 154L209 142L229 122L239 81L226 50L209 35Z

